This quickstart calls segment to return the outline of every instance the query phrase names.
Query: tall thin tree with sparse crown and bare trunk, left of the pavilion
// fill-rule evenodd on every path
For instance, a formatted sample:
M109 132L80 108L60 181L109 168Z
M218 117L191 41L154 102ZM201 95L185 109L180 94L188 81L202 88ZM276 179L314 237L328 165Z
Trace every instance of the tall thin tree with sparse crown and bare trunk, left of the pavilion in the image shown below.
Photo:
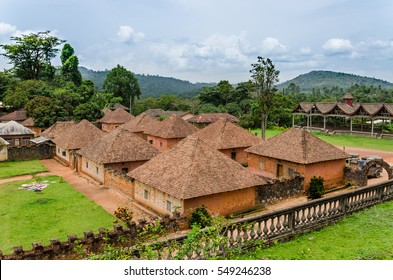
M273 104L273 95L277 91L274 84L279 81L280 71L275 69L272 60L260 56L258 62L251 64L251 67L250 73L261 110L262 139L266 139L267 118Z

